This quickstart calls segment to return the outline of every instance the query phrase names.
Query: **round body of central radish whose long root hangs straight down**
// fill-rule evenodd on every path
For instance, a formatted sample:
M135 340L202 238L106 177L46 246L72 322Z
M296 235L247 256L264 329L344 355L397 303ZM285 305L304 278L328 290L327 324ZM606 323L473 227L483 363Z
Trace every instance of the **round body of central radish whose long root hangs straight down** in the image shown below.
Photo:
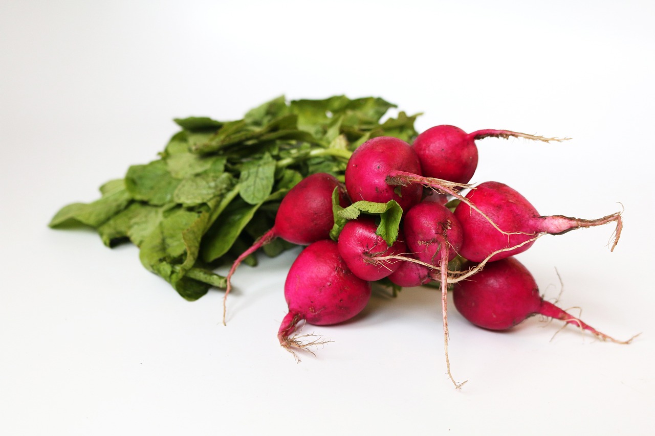
M421 202L409 209L403 232L410 253L432 265L440 264L442 249L447 249L451 261L462 247L462 226L450 209L436 202Z

